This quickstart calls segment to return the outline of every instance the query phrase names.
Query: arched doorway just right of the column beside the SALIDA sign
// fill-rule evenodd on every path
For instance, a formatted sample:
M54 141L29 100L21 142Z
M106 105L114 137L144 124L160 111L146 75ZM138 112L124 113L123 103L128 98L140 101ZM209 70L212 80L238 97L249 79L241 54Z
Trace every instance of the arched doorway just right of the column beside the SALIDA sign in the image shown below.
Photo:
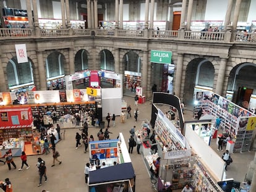
M188 107L194 106L195 89L213 90L215 69L213 64L205 58L196 58L189 62L184 83L184 103Z

